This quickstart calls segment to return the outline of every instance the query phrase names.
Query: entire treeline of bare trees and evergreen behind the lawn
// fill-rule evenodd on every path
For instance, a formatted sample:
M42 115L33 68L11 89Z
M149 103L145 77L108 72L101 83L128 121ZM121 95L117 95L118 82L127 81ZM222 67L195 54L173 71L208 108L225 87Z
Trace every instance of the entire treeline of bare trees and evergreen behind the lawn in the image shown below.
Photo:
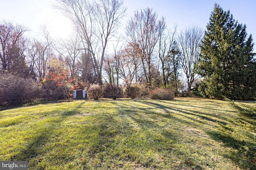
M196 25L169 29L164 17L144 8L134 12L120 34L123 0L56 2L73 23L69 39L54 39L47 27L43 37L29 38L26 27L0 23L1 105L22 93L31 93L23 94L23 103L58 100L90 84L108 84L110 91L140 84L144 95L158 87L209 98L256 96L252 35L218 4L206 31Z

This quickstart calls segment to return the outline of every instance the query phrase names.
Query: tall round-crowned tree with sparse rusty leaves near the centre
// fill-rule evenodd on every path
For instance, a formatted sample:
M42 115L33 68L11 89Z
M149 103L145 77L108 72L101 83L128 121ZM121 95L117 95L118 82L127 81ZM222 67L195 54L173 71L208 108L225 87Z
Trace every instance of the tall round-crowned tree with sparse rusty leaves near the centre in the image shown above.
M148 83L151 80L151 62L154 47L158 41L161 29L165 28L165 21L162 17L157 20L156 12L152 8L144 10L137 10L134 16L128 21L126 25L126 35L130 43L138 46L141 49L141 61L144 70L144 75Z

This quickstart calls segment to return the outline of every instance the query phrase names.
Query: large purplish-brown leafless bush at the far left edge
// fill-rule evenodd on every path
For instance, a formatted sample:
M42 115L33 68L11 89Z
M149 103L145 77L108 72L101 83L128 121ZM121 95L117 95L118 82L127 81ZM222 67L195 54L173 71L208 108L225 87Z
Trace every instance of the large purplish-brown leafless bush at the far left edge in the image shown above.
M41 88L31 78L13 74L0 75L0 106L17 106L40 96Z

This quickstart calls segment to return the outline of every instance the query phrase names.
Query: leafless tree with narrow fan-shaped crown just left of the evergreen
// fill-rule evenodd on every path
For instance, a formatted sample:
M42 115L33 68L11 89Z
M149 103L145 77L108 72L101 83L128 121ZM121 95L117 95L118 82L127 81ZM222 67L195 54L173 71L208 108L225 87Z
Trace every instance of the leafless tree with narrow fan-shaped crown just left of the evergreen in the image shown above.
M200 59L200 45L203 36L203 29L198 26L187 27L180 32L178 44L180 47L180 60L182 70L184 71L188 84L188 95L190 95L191 86L198 78L194 73L194 64Z

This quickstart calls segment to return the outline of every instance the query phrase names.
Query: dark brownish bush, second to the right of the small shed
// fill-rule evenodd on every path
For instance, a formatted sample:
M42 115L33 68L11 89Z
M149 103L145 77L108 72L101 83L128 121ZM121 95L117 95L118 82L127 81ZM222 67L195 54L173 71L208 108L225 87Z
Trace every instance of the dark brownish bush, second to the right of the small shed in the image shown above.
M116 98L122 97L122 89L116 85L106 84L104 86L104 98L112 98L116 100Z

